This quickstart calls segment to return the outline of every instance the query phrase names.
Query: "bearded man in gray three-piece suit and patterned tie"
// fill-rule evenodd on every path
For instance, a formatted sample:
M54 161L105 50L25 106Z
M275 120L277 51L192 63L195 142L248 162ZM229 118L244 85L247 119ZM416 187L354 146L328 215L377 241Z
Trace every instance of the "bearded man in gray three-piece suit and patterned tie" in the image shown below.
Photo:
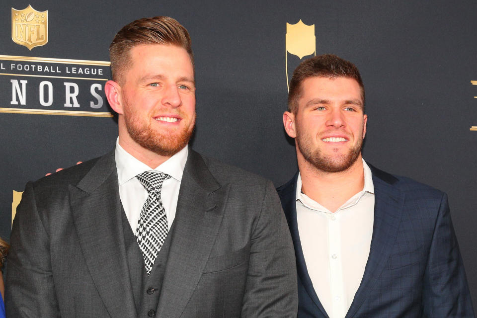
M110 56L115 151L26 185L8 317L295 317L295 257L273 184L187 147L187 30L169 17L134 21Z

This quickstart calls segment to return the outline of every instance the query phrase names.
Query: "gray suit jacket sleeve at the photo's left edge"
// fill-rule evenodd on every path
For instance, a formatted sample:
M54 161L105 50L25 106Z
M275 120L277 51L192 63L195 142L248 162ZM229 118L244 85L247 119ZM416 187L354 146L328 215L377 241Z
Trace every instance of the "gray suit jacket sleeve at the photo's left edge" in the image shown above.
M60 317L50 260L46 218L32 183L26 185L13 221L5 282L7 317Z

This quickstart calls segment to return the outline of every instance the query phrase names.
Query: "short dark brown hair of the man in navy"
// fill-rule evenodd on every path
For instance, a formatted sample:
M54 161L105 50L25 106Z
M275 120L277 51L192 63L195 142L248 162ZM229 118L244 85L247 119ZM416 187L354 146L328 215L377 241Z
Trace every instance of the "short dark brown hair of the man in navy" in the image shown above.
M364 84L358 68L353 63L333 54L323 54L307 59L295 69L288 91L289 112L296 114L298 99L302 94L302 82L311 77L355 79L361 88L364 112Z

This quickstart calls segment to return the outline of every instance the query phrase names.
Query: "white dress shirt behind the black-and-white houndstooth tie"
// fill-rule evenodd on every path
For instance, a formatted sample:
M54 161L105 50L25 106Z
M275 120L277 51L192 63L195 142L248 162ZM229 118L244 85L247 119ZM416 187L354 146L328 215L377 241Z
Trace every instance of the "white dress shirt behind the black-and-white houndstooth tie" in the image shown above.
M136 176L144 171L154 170L167 173L171 176L162 183L162 190L160 192L162 205L167 215L167 225L170 230L175 218L180 181L182 180L182 173L184 172L185 162L187 161L187 146L155 169L151 169L147 164L139 161L125 151L119 145L119 139L116 141L114 155L116 168L118 170L119 197L134 235L136 235L141 209L148 198L148 191L146 191Z

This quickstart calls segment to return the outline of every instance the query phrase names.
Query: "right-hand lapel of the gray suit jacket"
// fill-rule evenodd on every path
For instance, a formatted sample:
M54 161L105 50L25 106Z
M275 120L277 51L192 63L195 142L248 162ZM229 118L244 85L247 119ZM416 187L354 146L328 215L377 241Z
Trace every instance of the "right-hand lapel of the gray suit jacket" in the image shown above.
M157 315L179 317L191 298L219 231L229 186L221 186L189 149Z

